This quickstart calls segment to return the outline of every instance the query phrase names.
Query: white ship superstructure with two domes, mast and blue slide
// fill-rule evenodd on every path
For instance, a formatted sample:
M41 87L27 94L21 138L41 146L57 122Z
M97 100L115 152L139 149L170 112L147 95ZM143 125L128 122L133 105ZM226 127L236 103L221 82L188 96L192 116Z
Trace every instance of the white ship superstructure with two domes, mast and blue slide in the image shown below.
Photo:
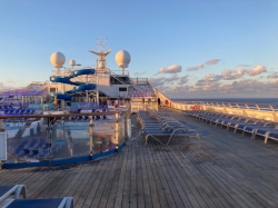
M149 100L156 99L156 93L148 79L130 78L126 70L130 62L129 52L121 50L116 55L116 61L121 68L112 71L107 67L106 57L111 52L105 49L103 38L98 39L99 49L89 50L98 56L96 66L76 68L75 60L70 60L71 68L63 67L66 58L61 52L51 55L50 60L56 68L50 77L48 91L50 97L61 100L61 105L72 102L92 102L107 106L116 100Z

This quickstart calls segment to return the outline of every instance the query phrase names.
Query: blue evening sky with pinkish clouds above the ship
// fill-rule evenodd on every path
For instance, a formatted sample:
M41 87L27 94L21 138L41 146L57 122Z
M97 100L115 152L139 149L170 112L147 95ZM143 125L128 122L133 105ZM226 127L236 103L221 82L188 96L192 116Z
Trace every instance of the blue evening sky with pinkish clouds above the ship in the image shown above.
M0 88L49 80L54 51L64 67L95 65L102 34L111 70L127 50L130 77L170 98L275 98L277 11L277 0L1 0Z

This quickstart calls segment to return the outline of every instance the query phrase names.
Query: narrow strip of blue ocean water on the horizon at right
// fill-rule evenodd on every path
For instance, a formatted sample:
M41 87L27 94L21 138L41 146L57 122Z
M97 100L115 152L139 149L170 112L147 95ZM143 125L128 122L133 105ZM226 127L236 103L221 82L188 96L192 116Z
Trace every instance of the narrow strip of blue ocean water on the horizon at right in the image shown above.
M183 98L183 99L171 99L171 100L278 105L278 98L192 98L192 99Z

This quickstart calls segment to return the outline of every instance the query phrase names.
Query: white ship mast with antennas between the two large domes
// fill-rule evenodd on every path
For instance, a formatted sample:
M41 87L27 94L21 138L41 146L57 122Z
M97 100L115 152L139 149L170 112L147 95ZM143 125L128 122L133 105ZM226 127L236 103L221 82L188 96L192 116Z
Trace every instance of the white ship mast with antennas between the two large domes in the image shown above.
M98 42L97 44L99 49L89 50L89 51L99 57L97 72L106 72L107 71L106 56L109 52L111 52L111 50L110 49L105 50L105 47L107 47L107 44L105 44L103 41L107 40L107 38L102 38L102 34L100 34L100 38L96 38L96 39L97 39L97 42Z

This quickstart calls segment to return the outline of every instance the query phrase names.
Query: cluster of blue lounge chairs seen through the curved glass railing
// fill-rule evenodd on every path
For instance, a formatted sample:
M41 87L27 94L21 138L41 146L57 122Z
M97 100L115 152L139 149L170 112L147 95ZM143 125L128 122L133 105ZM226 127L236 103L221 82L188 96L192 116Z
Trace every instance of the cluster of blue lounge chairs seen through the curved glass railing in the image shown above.
M24 139L17 148L12 150L12 153L20 158L37 158L43 159L49 156L52 151L58 151L62 147L61 142L56 142L51 148L46 146L46 139L33 138Z

